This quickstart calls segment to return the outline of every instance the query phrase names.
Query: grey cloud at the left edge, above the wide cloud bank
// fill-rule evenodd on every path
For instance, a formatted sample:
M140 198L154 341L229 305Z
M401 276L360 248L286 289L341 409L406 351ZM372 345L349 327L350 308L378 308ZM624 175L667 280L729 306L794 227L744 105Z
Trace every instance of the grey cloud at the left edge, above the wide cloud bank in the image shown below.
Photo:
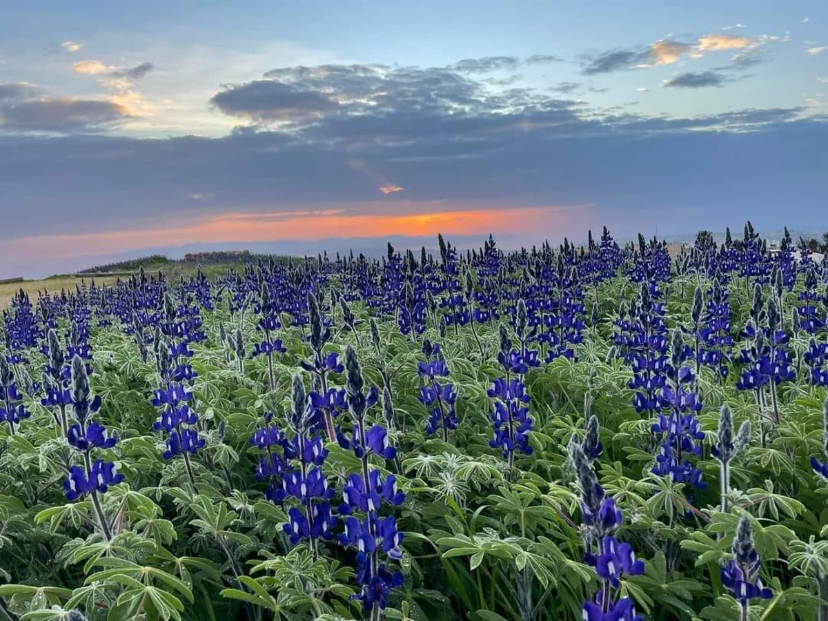
M31 84L0 84L0 132L102 132L130 118L118 103L44 94Z

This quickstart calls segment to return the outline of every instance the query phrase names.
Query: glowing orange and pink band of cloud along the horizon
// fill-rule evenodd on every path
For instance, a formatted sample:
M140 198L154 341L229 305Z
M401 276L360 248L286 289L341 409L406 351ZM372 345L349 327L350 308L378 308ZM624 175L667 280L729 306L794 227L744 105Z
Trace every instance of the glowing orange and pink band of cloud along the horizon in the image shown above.
M89 254L122 253L142 248L176 247L197 243L256 243L280 240L316 241L326 238L387 238L486 235L488 233L542 236L582 214L584 205L516 207L513 209L455 209L423 214L349 214L344 209L220 214L195 224L166 229L65 233L18 238L7 244L15 255L72 258Z

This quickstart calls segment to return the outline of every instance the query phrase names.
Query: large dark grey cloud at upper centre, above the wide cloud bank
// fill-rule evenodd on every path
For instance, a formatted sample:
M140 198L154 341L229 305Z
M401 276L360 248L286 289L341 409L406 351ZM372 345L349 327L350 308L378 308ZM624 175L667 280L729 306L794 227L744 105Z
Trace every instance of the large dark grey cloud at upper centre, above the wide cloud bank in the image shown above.
M580 123L580 104L532 89L493 91L446 69L322 65L272 70L214 95L224 113L282 127L315 141L422 142L474 139L530 124L560 131Z

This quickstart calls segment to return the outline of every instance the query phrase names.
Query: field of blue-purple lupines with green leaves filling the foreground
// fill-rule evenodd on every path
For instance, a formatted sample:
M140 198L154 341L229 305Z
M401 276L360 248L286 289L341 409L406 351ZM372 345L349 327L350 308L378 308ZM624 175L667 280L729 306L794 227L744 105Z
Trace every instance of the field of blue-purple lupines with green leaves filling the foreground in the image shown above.
M828 266L259 260L4 305L0 620L828 619Z

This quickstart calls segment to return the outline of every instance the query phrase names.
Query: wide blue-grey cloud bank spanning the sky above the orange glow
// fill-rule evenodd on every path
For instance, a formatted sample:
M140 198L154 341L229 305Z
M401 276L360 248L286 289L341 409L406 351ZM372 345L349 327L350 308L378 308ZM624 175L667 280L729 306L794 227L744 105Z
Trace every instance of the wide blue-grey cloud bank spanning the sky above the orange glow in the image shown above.
M414 210L418 201L432 200L500 207L589 203L599 207L599 220L626 230L655 219L645 218L645 209L663 209L665 233L682 226L685 209L694 209L696 219L704 215L698 209L713 209L713 226L727 218L738 224L751 210L771 214L776 205L795 205L792 219L804 222L820 213L828 192L828 154L821 148L828 123L795 120L801 112L598 121L550 104L546 112L515 112L502 125L483 115L460 124L429 117L407 128L368 118L351 127L339 119L344 125L329 128L354 139L320 140L310 129L213 139L0 137L0 207L4 213L16 205L26 209L25 218L5 221L0 238L140 229L148 222L163 227L298 205L354 204L383 213L388 202L373 202L378 185L349 166L354 158L404 186ZM730 131L698 131L705 129ZM792 152L797 158L787 156ZM214 198L189 200L195 191ZM71 219L61 217L67 212ZM683 226L676 233L693 224Z

